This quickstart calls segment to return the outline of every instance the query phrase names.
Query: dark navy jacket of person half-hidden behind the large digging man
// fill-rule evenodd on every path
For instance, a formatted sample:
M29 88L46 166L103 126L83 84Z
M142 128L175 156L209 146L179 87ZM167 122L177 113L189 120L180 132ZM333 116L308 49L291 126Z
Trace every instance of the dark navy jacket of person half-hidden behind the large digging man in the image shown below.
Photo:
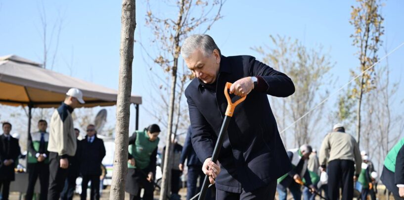
M186 159L187 166L202 167L202 162L199 160L198 156L196 156L195 150L192 147L191 136L192 136L192 128L191 126L189 126L188 132L186 133L184 147L182 148L181 152L180 164L184 164Z

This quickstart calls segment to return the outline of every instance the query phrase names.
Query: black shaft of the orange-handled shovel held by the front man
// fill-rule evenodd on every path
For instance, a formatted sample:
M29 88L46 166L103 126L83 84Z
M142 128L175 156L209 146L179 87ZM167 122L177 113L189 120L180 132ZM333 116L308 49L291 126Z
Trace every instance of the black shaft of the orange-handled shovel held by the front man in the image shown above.
M219 138L216 141L215 149L213 150L213 155L211 158L211 160L215 163L216 163L216 161L218 161L219 152L222 149L224 135L226 134L228 123L230 122L230 119L231 119L231 117L229 117L227 115L224 116L222 128L220 129L220 133L219 133ZM205 200L206 191L208 189L208 186L209 186L209 176L205 175L205 179L203 180L201 193L199 194L198 200Z

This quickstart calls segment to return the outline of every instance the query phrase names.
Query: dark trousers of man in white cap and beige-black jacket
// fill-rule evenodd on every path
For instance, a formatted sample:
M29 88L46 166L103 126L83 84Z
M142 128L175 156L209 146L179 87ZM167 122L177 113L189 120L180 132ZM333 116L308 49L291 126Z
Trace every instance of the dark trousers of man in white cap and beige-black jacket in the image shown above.
M69 159L70 161L70 159ZM60 156L56 152L49 152L49 189L48 200L59 200L68 169L60 168Z

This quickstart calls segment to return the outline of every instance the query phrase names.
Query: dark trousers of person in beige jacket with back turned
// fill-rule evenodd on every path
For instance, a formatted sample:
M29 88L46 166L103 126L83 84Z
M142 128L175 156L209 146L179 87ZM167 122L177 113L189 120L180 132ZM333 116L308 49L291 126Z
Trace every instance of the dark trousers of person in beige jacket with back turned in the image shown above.
M342 186L342 199L352 200L354 197L355 166L352 160L332 160L328 163L328 198L339 199L339 188Z

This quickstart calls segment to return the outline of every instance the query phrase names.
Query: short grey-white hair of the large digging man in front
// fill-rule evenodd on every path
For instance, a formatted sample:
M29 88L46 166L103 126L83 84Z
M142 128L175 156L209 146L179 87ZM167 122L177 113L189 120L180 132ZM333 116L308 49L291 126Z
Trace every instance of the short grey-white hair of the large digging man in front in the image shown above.
M205 56L212 54L215 49L222 55L213 38L206 34L191 35L186 38L181 47L181 55L183 58L188 58L197 49L201 50Z

